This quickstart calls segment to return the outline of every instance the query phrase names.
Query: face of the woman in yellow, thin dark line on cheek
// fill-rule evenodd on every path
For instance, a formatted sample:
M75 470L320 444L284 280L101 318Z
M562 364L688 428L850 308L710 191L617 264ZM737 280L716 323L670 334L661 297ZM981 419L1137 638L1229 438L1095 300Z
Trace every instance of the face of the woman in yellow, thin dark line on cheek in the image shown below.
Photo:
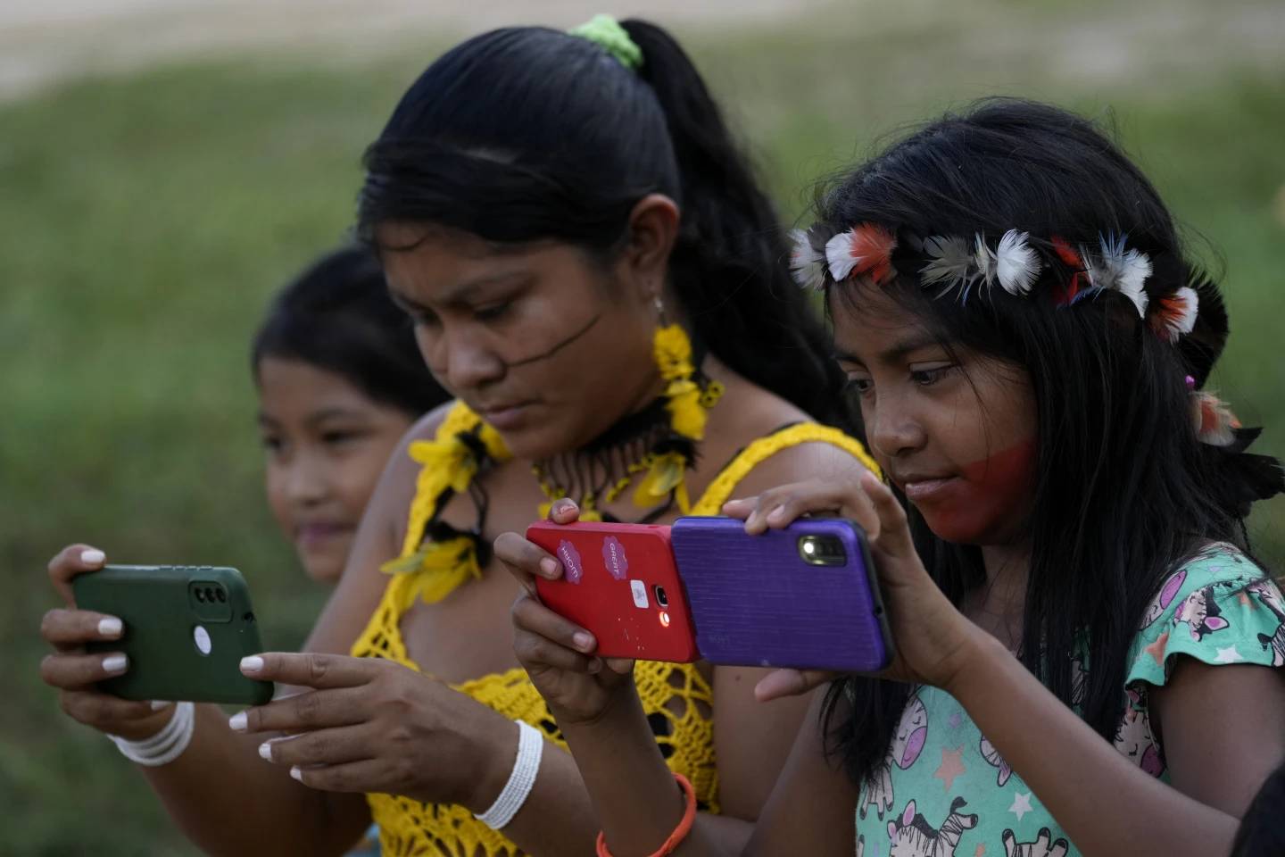
M574 450L659 392L651 356L663 258L609 270L563 243L496 249L386 225L384 271L428 367L519 459ZM666 251L667 254L667 251Z

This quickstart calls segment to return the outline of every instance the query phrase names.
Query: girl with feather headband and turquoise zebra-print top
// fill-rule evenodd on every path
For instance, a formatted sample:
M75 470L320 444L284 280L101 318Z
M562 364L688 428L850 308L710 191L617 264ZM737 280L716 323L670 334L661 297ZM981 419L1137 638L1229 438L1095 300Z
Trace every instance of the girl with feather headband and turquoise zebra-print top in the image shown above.
M1204 389L1217 284L1114 144L1029 102L924 127L817 208L793 267L825 293L887 483L725 511L750 533L861 522L897 657L758 685L828 687L741 853L1226 854L1285 758L1285 600L1244 527L1285 478ZM559 573L497 546L519 576ZM599 853L727 853L681 817L626 664L535 600L514 624Z

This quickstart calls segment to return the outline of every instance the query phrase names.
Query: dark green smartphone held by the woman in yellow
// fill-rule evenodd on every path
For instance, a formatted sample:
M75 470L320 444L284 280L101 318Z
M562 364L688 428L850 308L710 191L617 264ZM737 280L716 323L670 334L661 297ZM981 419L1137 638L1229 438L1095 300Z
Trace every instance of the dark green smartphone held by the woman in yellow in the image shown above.
M89 651L123 651L130 668L98 682L122 699L262 705L272 682L247 678L240 659L260 654L249 587L235 568L104 565L72 579L76 606L120 617L120 640Z

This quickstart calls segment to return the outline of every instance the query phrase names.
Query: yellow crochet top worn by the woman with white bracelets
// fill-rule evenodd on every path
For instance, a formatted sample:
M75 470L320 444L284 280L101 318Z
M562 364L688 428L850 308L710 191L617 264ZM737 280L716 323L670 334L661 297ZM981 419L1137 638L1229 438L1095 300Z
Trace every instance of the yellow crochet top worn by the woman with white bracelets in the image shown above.
M455 420L450 416L447 420L459 424L459 415L455 416ZM745 447L714 478L704 496L693 506L691 514L718 514L736 484L761 461L786 447L812 442L837 446L878 473L878 466L857 441L834 428L799 423L758 438ZM415 545L409 543L403 554L414 550ZM419 669L406 654L400 621L416 595L425 592L424 582L419 578L438 570L432 565L420 565L419 570L412 573L393 574L365 632L353 644L352 655L387 658L411 669ZM464 582L468 574L455 576L455 579ZM700 809L718 812L718 776L714 766L712 721L713 690L709 682L694 664L642 660L634 668L634 680L667 764L691 781ZM567 749L567 743L544 698L520 668L482 676L452 687L505 717L531 723L550 741ZM391 794L368 794L366 800L370 803L375 824L379 825L382 853L388 857L411 854L517 857L522 853L502 834L475 820L465 807L425 804Z

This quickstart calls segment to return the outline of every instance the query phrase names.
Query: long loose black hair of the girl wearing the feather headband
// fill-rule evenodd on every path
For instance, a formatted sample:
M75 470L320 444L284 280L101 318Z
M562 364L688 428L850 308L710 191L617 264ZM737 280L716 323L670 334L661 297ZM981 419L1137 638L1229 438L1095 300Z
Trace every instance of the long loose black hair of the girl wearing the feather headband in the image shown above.
M1037 484L1020 658L1110 739L1128 646L1167 573L1210 540L1248 552L1249 504L1282 488L1275 459L1244 451L1255 430L1227 447L1198 439L1189 384L1204 384L1227 334L1216 284L1185 257L1169 212L1117 145L1094 123L1032 102L986 100L928 125L824 186L819 209L826 234L865 222L924 238L1015 229L1045 247L1056 236L1088 248L1123 235L1154 265L1153 299L1180 287L1198 293L1195 328L1174 344L1119 292L1058 306L1051 296L1074 266L1046 266L1025 297L997 287L966 301L937 297L923 288L921 261L897 262L882 287L829 289L830 301L860 305L865 289L883 288L944 344L1029 374ZM912 506L910 518L925 567L960 605L986 579L980 549L937 538ZM1087 676L1073 699L1072 655L1085 649ZM884 761L908 694L870 678L831 689L831 748L855 781ZM851 718L837 716L849 707Z

